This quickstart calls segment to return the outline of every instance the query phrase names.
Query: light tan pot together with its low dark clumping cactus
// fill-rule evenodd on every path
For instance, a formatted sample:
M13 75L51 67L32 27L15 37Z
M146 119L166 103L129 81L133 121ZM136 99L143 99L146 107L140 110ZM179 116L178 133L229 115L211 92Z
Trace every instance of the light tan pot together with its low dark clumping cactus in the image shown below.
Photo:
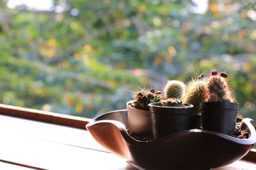
M126 104L128 129L134 134L148 134L152 132L151 117L148 104L160 101L161 92L151 89L141 89L134 92L134 100Z

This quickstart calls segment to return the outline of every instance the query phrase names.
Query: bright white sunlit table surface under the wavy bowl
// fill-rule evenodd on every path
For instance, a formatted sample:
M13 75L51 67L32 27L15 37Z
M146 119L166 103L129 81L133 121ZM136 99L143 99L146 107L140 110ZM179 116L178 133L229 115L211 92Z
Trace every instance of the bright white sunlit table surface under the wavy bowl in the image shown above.
M0 169L134 169L83 129L0 115ZM223 169L256 169L239 160Z

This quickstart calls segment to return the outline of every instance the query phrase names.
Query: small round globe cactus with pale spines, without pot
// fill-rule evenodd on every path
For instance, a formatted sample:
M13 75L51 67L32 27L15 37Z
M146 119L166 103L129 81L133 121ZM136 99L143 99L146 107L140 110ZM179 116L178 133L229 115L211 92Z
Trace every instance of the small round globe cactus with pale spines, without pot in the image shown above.
M164 87L165 98L177 98L181 99L185 92L185 85L181 81L170 80Z

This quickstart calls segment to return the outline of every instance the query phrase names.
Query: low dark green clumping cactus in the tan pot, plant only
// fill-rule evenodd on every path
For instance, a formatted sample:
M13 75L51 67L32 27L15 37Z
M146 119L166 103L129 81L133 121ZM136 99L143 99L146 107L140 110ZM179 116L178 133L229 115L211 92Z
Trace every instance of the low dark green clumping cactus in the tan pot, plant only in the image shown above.
M162 92L159 92L154 89L147 91L141 89L141 91L134 93L134 103L131 103L131 106L141 110L149 110L148 104L157 103L161 99Z

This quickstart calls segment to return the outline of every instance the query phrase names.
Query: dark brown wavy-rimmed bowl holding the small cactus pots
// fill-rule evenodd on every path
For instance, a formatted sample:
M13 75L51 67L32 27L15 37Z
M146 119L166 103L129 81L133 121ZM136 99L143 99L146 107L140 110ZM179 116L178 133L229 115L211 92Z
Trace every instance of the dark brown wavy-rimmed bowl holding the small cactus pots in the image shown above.
M241 122L238 139L218 132L191 129L150 142L137 141L127 132L127 111L104 113L86 125L93 138L109 152L138 169L211 169L231 164L244 157L255 145L256 122Z

